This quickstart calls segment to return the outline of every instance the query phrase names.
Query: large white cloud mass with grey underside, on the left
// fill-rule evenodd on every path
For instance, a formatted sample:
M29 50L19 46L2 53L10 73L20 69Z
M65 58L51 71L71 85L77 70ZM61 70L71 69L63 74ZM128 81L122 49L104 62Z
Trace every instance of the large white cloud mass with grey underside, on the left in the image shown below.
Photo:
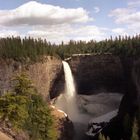
M94 10L96 13L100 11L99 7L94 7ZM31 36L60 43L71 39L102 40L109 32L106 28L88 25L91 18L83 8L66 9L35 1L16 9L0 10L0 19L1 37Z

